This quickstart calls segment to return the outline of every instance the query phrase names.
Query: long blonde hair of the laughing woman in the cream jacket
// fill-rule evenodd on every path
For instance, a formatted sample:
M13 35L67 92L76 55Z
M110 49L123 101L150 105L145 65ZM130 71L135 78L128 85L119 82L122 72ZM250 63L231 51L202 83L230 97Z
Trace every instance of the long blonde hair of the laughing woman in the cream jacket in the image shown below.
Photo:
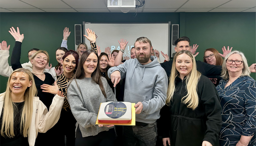
M14 112L17 111L16 104L12 101L11 89L10 89L10 80L13 73L15 72L24 72L29 76L29 81L32 81L32 86L28 87L24 93L25 103L22 108L22 115L20 121L20 132L23 131L23 137L28 137L30 130L30 125L32 122L32 112L33 112L33 97L37 94L36 86L34 83L34 78L30 70L19 68L12 72L9 76L7 82L7 88L4 94L4 105L3 105L3 120L1 125L1 135L4 137L14 137Z

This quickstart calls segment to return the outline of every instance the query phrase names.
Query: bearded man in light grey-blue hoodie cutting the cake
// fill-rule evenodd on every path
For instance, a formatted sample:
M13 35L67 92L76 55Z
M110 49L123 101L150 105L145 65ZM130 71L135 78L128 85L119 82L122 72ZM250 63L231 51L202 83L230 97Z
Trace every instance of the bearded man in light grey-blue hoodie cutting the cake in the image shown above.
M136 126L123 126L124 145L155 146L157 140L157 119L165 105L167 75L156 56L151 56L151 41L146 37L136 40L137 59L129 59L108 70L108 76L115 85L125 80L124 101L136 103Z

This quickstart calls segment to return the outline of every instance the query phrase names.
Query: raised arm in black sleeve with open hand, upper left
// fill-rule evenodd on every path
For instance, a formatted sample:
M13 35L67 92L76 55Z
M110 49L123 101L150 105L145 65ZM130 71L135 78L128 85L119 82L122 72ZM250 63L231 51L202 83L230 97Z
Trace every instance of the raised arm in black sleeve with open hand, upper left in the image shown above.
M17 27L17 32L14 29L14 27L10 28L10 30L11 30L9 31L10 34L14 37L16 41L13 47L13 52L11 56L11 66L12 66L12 69L15 70L17 68L22 68L20 59L21 59L21 44L24 39L24 34L20 34L19 27Z

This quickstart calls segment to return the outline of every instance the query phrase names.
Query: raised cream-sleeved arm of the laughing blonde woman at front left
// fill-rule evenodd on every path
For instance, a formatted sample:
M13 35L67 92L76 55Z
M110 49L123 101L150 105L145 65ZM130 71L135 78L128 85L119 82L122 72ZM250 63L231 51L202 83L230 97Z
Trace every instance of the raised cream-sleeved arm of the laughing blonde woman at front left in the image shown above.
M47 130L52 128L60 118L61 107L64 102L63 93L59 91L52 99L52 103L50 105L49 111L47 107L39 101L39 105L37 107L39 116L38 121L38 132L45 133Z

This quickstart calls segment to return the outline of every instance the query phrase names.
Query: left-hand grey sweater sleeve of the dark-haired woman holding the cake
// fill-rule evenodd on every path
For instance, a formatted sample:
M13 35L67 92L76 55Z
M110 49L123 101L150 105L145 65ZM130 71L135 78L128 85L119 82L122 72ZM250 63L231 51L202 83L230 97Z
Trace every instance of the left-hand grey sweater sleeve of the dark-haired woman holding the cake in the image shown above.
M80 126L84 128L95 126L97 114L89 112L83 104L82 95L76 85L76 82L71 81L67 89L68 102L75 119Z

